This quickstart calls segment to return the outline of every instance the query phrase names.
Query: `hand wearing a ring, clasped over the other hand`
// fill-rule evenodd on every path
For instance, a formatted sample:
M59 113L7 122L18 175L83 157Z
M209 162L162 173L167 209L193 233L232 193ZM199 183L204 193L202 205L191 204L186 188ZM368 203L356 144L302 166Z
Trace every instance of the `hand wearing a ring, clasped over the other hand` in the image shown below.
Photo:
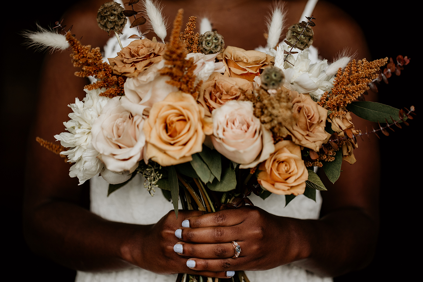
M305 258L298 220L244 206L187 218L175 235L175 252L198 271L266 270ZM187 227L189 226L189 227ZM297 230L298 231L298 230ZM302 232L299 232L302 233ZM235 241L241 247L234 258Z

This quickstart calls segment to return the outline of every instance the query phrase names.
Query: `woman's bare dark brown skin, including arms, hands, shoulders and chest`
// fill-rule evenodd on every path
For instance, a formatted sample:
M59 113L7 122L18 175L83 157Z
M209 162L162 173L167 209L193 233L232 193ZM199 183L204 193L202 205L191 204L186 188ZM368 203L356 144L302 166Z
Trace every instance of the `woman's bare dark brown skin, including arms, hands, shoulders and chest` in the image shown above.
M77 38L83 36L82 44L104 46L107 41L107 33L95 21L96 11L104 2L84 2L65 15L66 25L74 25L72 33ZM184 8L185 19L204 16L208 10L206 16L227 45L249 50L266 44L263 22L271 1L230 1L226 5L221 0L198 2L162 1L170 21L178 8ZM305 1L288 2L287 23L297 22L304 6ZM357 58L369 58L363 34L345 13L319 2L313 14L313 45L324 58L331 61L344 47L357 50ZM40 136L52 141L53 135L63 131L62 122L69 119L67 105L85 95L82 89L88 82L73 75L77 69L71 64L70 53L46 57L36 126L30 140ZM367 125L355 116L353 122L356 128ZM320 220L284 218L245 206L206 215L179 211L177 219L170 211L157 224L147 226L111 222L79 206L82 188L77 179L69 178L69 164L35 141L30 144L30 152L31 160L37 163L33 166L28 162L31 168L27 172L24 207L27 242L35 252L70 268L110 271L138 266L161 274L226 277L228 270L264 270L296 262L317 274L336 276L364 267L373 255L379 193L379 152L374 138L359 143L354 152L357 162L353 166L343 163L336 185L326 180L328 191L322 193ZM182 239L178 239L174 232L187 218L191 228L182 228ZM242 247L236 259L231 258L231 241ZM173 251L176 243L183 244L182 256ZM196 261L195 268L186 266L187 258Z

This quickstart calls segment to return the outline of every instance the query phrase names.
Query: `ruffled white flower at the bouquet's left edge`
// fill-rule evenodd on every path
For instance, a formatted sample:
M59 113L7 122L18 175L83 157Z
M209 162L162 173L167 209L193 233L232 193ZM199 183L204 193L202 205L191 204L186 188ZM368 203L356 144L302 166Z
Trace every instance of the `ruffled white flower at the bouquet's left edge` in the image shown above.
M62 146L70 147L68 151L60 154L67 155L69 161L75 163L71 166L69 176L78 177L80 185L103 168L103 164L97 158L99 152L91 144L91 126L102 113L104 105L110 100L99 96L105 90L105 88L85 90L87 95L82 101L75 98L75 103L69 105L73 111L68 115L71 120L63 122L69 132L54 136Z

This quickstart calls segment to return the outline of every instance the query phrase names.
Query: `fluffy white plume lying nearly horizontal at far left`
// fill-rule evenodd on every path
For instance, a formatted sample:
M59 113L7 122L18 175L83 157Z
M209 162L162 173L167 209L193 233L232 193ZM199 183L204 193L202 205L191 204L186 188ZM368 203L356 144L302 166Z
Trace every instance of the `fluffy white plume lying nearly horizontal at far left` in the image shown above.
M26 44L30 47L35 47L37 50L51 49L51 50L67 50L69 43L66 36L56 33L52 30L47 30L37 25L38 31L24 31L22 36L27 39Z

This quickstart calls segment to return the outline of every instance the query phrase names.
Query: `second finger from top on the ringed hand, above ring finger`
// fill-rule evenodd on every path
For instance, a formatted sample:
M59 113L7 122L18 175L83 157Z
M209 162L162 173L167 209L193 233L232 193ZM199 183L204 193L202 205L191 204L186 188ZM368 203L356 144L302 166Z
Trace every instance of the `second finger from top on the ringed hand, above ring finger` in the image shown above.
M175 231L175 236L192 243L228 243L241 241L243 232L239 225L200 228L182 228Z

